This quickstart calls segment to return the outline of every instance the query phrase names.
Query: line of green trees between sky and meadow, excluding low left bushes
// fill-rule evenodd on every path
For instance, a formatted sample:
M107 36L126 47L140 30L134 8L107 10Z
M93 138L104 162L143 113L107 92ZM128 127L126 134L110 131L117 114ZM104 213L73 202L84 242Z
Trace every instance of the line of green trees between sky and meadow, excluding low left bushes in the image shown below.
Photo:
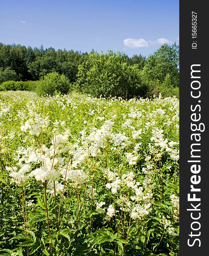
M93 96L130 98L159 92L178 96L179 46L164 44L146 58L112 51L99 54L94 50L32 49L0 43L0 84L11 80L42 81L50 73L64 75L71 90Z

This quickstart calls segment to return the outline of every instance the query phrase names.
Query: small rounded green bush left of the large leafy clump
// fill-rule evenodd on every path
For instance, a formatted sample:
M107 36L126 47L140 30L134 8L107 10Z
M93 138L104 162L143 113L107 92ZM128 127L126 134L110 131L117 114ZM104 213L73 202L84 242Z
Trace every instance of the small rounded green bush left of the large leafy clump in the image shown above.
M49 73L37 84L36 92L39 96L53 95L55 92L66 94L70 90L71 83L64 75L57 72Z

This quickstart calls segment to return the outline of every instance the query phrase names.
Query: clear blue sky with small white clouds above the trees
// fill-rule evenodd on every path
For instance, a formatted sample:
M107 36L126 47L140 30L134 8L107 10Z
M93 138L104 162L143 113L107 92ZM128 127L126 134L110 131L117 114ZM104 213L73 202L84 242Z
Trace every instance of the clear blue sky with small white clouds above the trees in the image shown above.
M1 1L0 42L147 57L179 44L179 1Z

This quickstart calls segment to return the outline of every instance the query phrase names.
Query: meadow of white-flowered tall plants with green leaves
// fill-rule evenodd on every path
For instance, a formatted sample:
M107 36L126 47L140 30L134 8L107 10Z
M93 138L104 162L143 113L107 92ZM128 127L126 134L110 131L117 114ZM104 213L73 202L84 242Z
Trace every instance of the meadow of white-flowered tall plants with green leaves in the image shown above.
M178 255L178 160L176 98L1 92L1 255Z

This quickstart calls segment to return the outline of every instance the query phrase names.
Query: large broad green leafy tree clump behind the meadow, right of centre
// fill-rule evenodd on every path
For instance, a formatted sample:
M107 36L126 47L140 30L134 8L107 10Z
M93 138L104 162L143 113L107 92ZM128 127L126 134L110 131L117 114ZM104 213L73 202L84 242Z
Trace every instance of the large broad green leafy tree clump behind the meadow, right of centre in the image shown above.
M88 61L79 66L76 87L92 96L116 96L129 99L146 96L146 88L141 84L138 65L128 65L124 54L93 52Z

